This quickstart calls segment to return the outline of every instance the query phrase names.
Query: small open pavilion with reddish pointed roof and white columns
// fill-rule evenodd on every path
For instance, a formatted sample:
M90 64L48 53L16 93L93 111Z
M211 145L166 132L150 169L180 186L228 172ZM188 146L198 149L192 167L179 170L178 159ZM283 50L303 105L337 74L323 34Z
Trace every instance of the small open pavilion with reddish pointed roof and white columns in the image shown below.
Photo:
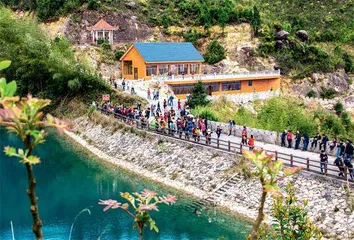
M93 43L97 43L99 39L102 39L112 44L113 31L118 30L118 28L109 25L101 16L100 20L94 26L87 27L87 30L91 32Z

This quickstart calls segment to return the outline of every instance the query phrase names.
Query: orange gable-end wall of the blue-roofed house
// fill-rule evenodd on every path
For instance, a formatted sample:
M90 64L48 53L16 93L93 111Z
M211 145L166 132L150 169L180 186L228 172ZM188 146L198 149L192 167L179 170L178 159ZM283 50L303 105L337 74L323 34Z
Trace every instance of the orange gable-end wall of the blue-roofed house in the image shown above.
M124 73L124 61L133 62L133 72L131 75ZM134 68L138 68L138 79L144 78L146 73L146 65L144 59L141 57L140 53L133 46L129 52L122 59L122 77L125 79L134 79Z

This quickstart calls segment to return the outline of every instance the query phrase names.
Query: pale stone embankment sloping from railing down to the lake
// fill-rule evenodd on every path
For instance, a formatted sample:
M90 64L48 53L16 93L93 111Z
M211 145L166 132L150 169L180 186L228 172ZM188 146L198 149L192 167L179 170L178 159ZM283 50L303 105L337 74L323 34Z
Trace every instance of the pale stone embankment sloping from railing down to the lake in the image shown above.
M213 196L214 191L223 186L225 181L235 177L237 169L244 167L241 158L231 153L141 132L124 125L119 128L103 127L94 124L87 117L73 121L70 135L107 161L200 198ZM255 178L242 173L237 175L237 183L213 199L219 206L254 218L259 205L261 185ZM353 239L354 214L349 210L347 193L338 180L304 171L280 184L285 185L288 181L298 188L299 200L308 200L309 215L326 233L327 238ZM269 197L267 213L271 202ZM270 218L267 220L271 221Z

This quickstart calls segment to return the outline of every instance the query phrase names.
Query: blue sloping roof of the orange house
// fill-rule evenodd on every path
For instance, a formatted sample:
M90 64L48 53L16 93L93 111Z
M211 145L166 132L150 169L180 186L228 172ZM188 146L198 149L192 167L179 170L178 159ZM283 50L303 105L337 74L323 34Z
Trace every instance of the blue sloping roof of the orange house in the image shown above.
M134 43L145 62L204 61L192 43Z

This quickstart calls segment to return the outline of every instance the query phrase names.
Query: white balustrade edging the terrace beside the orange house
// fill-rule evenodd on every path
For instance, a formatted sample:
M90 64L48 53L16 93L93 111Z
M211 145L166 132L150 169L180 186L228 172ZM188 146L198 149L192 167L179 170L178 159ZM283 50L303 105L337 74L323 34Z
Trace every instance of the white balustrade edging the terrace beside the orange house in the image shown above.
M188 75L159 75L152 76L152 80L173 81L173 80L212 80L212 79L235 79L244 77L280 76L280 70L266 70L257 72L223 73L223 74L188 74Z

